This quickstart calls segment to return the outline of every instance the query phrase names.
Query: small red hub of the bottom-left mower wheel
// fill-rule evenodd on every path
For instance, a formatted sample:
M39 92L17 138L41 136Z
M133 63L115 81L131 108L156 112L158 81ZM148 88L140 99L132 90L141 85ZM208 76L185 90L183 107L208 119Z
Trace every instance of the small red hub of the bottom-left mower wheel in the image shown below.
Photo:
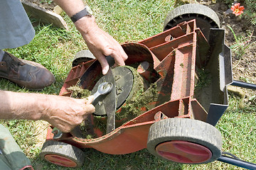
M53 164L57 164L60 166L75 167L78 165L73 160L60 156L58 154L46 154L45 158L46 160L48 160L48 162L51 162Z

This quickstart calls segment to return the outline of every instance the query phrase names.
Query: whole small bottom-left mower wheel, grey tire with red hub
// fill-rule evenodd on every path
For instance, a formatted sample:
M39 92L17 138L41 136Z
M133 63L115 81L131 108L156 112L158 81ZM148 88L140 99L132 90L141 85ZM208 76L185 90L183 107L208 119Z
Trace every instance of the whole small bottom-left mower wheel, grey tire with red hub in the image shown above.
M85 154L78 147L54 140L43 144L40 156L52 164L73 168L82 166L85 160Z

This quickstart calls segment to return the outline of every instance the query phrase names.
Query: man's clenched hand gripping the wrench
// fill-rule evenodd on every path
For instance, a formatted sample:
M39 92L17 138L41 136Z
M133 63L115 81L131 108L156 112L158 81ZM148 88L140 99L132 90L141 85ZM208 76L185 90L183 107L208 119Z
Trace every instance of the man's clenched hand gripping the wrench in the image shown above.
M95 112L95 107L91 104L92 100L92 96L87 99L59 96L51 101L52 103L42 119L62 132L70 132L80 125L88 114Z

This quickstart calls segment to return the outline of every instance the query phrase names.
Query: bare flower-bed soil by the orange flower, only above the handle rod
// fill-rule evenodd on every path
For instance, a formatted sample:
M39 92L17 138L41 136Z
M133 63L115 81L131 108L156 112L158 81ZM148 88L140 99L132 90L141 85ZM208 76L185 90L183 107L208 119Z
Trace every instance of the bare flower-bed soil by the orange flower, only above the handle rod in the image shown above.
M256 28L252 26L250 21L247 21L243 16L235 16L233 13L225 13L229 7L223 2L213 4L211 0L209 0L203 1L201 4L205 4L206 6L212 8L215 13L218 14L221 28L225 29L225 44L228 45L228 47L232 47L232 45L235 45L236 43L235 37L228 26L233 28L237 37L244 36L247 38L247 42L245 41L245 46L248 45L248 48L245 50L245 54L238 57L233 52L233 79L256 84L256 48L253 47L253 45L250 45L252 42L256 41Z

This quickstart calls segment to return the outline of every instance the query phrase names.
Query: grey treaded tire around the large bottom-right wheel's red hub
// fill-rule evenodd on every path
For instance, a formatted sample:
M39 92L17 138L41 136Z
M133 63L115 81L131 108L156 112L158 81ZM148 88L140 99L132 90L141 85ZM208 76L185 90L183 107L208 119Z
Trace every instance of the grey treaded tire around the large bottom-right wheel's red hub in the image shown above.
M212 157L200 164L213 162L221 156L222 136L220 132L213 125L200 120L169 118L154 123L149 129L147 149L156 157L165 159L156 153L156 147L172 140L193 142L210 149Z

